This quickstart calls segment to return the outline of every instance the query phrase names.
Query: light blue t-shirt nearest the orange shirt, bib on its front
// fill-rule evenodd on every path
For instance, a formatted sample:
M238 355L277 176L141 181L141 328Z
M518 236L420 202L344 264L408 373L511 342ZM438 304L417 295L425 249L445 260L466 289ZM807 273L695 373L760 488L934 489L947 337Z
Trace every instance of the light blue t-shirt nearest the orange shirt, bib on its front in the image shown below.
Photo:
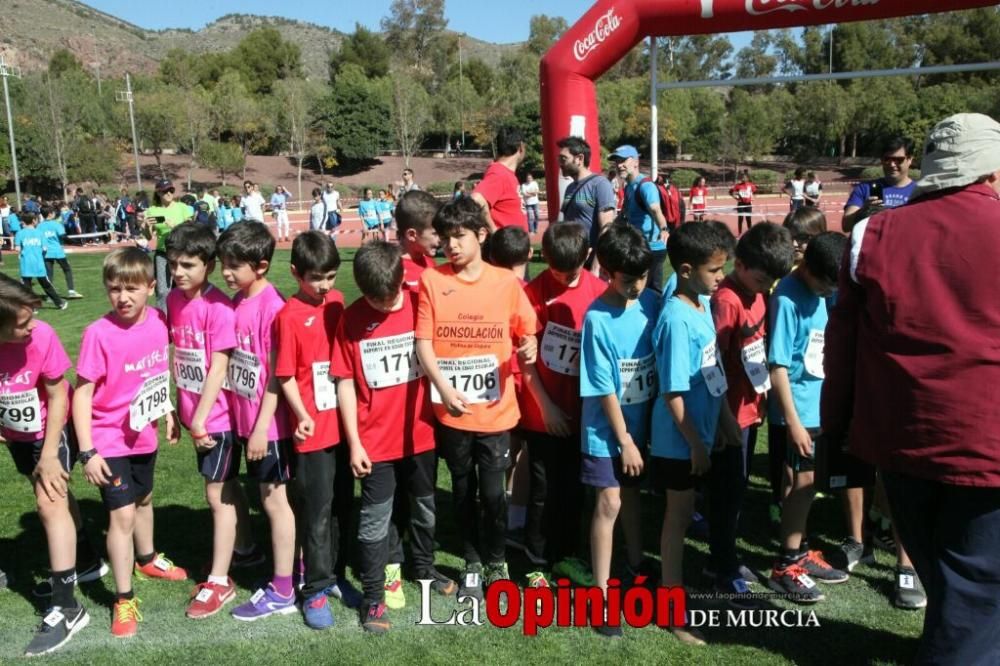
M646 289L629 308L613 307L598 298L584 315L580 345L584 453L600 458L621 455L621 445L601 407L601 397L612 393L621 403L632 441L645 448L650 407L656 398L653 326L659 309L658 294Z

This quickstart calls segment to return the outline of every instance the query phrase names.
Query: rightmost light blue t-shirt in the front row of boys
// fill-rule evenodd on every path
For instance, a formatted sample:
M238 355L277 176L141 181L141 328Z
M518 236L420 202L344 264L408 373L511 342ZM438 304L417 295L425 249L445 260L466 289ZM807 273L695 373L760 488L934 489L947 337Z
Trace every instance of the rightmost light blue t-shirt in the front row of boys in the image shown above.
M819 427L826 321L826 299L809 291L796 273L782 279L771 294L767 362L788 369L792 402L806 428ZM768 403L768 420L784 424L778 400L772 396Z

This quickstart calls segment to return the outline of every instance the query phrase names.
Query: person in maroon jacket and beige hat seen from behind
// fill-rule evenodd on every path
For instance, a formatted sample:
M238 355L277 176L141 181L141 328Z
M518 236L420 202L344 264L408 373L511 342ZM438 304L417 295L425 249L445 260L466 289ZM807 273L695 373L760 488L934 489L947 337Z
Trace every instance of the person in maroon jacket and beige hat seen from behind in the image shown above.
M908 205L851 233L822 424L877 465L927 588L916 661L1000 663L1000 124L928 136Z

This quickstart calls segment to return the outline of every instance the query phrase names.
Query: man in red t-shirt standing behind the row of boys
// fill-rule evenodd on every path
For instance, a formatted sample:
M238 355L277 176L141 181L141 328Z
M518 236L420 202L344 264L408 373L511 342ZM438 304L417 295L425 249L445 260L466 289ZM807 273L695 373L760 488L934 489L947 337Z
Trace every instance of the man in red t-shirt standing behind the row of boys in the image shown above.
M472 200L482 209L490 233L512 226L527 231L516 175L524 161L524 137L519 130L502 128L497 132L496 149L497 158L472 190Z

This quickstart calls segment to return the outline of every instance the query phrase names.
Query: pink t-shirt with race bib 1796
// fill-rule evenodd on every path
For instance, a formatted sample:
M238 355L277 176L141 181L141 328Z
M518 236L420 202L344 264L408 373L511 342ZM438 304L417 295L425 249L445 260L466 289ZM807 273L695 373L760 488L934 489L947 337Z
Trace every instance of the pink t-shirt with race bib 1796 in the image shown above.
M252 298L241 293L233 297L236 310L236 349L229 358L229 387L236 434L249 437L257 423L261 398L271 378L271 341L274 320L285 307L273 284ZM274 441L292 436L288 406L278 391L278 409L267 429L267 439Z

